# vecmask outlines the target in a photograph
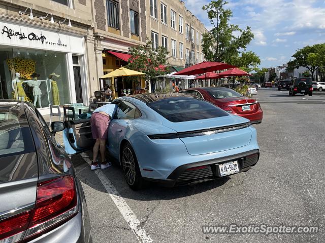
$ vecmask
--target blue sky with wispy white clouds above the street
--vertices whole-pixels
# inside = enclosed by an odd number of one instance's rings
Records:
[[[184,0],[186,8],[209,30],[212,28],[202,6],[209,0]],[[250,26],[254,39],[246,51],[261,59],[259,67],[276,67],[307,45],[325,43],[325,1],[316,0],[228,0],[232,24]]]

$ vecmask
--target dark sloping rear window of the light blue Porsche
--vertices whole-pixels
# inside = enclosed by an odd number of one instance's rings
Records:
[[[196,97],[171,97],[147,105],[173,123],[229,115],[213,104]]]

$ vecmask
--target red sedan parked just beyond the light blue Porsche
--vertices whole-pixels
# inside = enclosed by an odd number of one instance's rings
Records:
[[[223,87],[193,88],[180,91],[205,99],[226,112],[239,115],[250,120],[250,123],[261,123],[263,110],[252,98],[245,97],[236,91]]]

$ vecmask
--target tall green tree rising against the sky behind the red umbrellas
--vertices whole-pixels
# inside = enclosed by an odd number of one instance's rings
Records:
[[[231,63],[238,57],[239,50],[245,50],[254,38],[250,27],[242,30],[238,25],[229,24],[233,12],[223,8],[226,4],[228,2],[217,0],[202,7],[213,25],[212,30],[203,34],[202,40],[202,52],[208,61]]]

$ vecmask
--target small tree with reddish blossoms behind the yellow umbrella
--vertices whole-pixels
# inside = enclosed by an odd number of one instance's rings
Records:
[[[169,72],[169,67],[162,70],[159,65],[168,66],[168,51],[164,47],[152,49],[151,41],[146,45],[138,45],[128,48],[131,57],[128,59],[126,68],[143,72],[146,74],[146,83],[149,86],[150,80],[157,75],[164,75]]]

